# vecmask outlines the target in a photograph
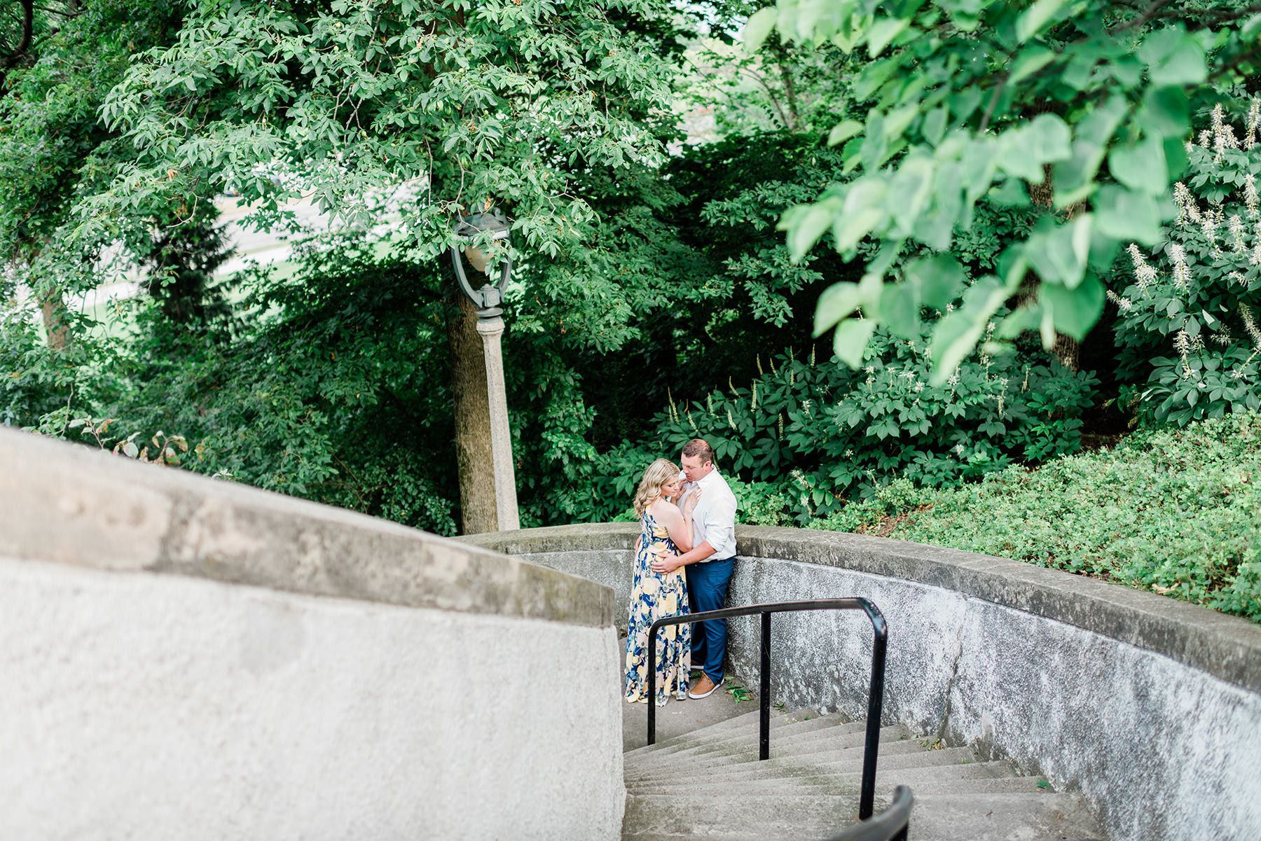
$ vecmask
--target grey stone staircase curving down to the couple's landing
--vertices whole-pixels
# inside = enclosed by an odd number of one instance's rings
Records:
[[[772,712],[758,762],[754,710],[625,753],[624,841],[828,838],[857,821],[864,724],[813,710]],[[912,841],[1081,841],[1102,837],[1076,797],[971,748],[929,749],[880,730],[876,806],[895,786],[915,803]]]

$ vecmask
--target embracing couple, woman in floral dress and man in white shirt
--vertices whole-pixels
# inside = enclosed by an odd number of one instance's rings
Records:
[[[643,473],[634,511],[636,542],[630,620],[627,627],[625,699],[647,701],[648,628],[657,619],[718,610],[735,566],[735,494],[714,467],[714,450],[694,439],[683,469],[657,459]],[[726,619],[666,625],[657,632],[657,706],[671,693],[709,696],[723,682]],[[689,690],[692,670],[701,676]]]

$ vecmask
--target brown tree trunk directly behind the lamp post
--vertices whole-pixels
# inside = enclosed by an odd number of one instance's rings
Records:
[[[445,260],[446,257],[444,257]],[[450,277],[448,289],[455,289]],[[451,351],[451,392],[455,402],[455,461],[460,480],[460,531],[478,535],[499,530],[494,499],[494,456],[491,451],[491,406],[485,358],[477,332],[473,301],[454,293],[446,335]]]

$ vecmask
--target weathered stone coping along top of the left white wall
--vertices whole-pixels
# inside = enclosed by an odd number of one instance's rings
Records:
[[[613,594],[459,541],[0,427],[0,555],[604,627]]]

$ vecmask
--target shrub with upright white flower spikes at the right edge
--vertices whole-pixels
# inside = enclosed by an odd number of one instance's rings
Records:
[[[1188,144],[1177,219],[1149,260],[1130,246],[1134,282],[1110,298],[1120,314],[1122,378],[1156,421],[1185,425],[1261,407],[1261,171],[1253,101],[1242,142],[1213,110],[1213,129]],[[1203,202],[1203,204],[1202,204]]]

